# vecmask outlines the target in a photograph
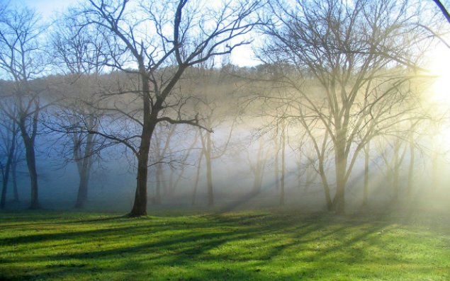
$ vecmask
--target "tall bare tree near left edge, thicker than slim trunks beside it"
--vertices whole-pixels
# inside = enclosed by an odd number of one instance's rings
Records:
[[[0,16],[0,69],[13,81],[11,93],[0,103],[1,110],[16,122],[26,149],[30,174],[30,209],[39,207],[35,138],[45,87],[33,79],[43,75],[45,53],[39,37],[43,33],[38,15],[28,8],[6,7]],[[33,85],[31,83],[33,82]]]

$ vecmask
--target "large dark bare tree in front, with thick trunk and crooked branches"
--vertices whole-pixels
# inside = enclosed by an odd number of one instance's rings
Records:
[[[150,142],[157,123],[202,127],[192,112],[181,112],[185,100],[174,101],[172,93],[177,82],[189,67],[248,44],[249,40],[240,37],[257,24],[250,20],[258,7],[254,1],[229,1],[221,6],[208,6],[206,1],[147,1],[133,6],[128,1],[89,0],[87,8],[82,9],[86,25],[96,25],[112,35],[111,67],[133,73],[140,80],[135,92],[141,100],[140,116],[125,116],[142,130],[133,139],[135,143],[123,140],[137,158],[135,202],[130,216],[147,214]],[[117,139],[114,135],[108,137]]]

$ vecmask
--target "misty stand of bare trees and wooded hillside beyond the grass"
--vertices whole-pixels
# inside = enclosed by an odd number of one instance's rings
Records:
[[[1,6],[0,206],[445,202],[449,103],[427,56],[448,28],[435,10],[86,1],[43,25]],[[265,38],[261,64],[230,64],[251,34]]]

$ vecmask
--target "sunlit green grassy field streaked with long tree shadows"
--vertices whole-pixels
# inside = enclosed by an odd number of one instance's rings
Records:
[[[0,280],[450,280],[446,217],[0,213]]]

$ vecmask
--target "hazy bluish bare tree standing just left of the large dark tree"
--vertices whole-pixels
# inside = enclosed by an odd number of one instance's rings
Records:
[[[68,159],[75,161],[79,174],[76,208],[82,208],[88,199],[89,175],[94,156],[108,147],[99,136],[91,133],[100,125],[104,111],[98,106],[99,76],[107,58],[103,48],[107,38],[96,30],[79,30],[80,18],[67,14],[58,19],[52,33],[54,64],[64,74],[64,81],[55,81],[55,92],[64,96],[53,113],[52,130],[67,134],[72,145]],[[79,124],[87,132],[77,130]]]

